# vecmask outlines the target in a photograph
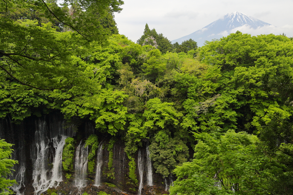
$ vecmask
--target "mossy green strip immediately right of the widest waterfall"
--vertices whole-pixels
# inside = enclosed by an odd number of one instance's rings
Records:
[[[62,165],[65,171],[73,171],[75,140],[72,137],[65,139],[65,145],[62,153]]]

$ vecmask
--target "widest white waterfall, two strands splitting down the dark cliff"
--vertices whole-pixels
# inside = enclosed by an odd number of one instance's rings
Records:
[[[38,121],[38,128],[35,131],[35,158],[33,158],[33,187],[35,194],[40,194],[51,187],[56,187],[62,181],[62,150],[65,144],[64,135],[56,135],[50,140],[47,134],[45,120]],[[55,154],[53,155],[52,169],[48,165],[50,143],[52,142]]]

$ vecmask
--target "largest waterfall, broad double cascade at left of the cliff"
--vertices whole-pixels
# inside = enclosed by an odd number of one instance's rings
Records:
[[[62,181],[62,151],[68,137],[65,134],[69,133],[72,136],[70,129],[65,130],[62,127],[62,120],[56,121],[54,118],[49,125],[44,119],[39,118],[36,121],[35,140],[31,151],[35,194],[56,187]]]

